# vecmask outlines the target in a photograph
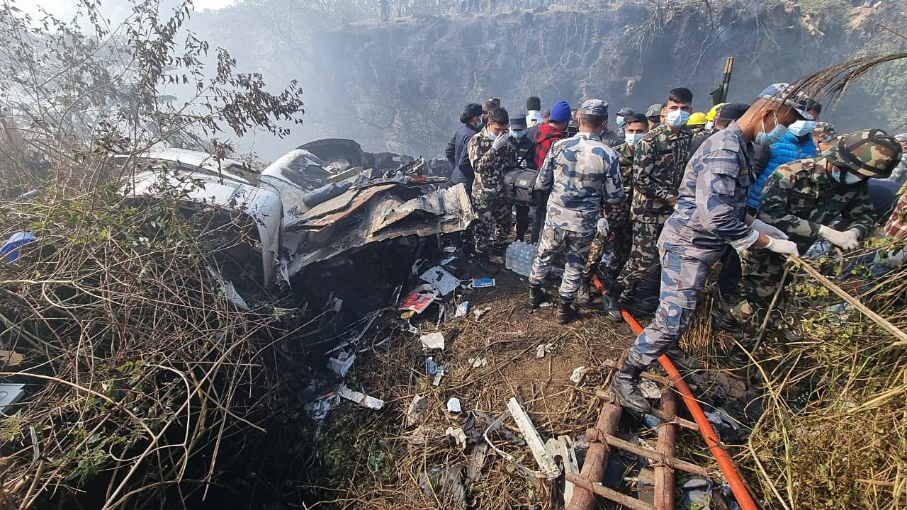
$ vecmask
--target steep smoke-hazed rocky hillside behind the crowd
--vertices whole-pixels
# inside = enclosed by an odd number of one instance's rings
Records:
[[[707,110],[727,56],[736,57],[729,99],[748,102],[766,84],[907,47],[888,31],[907,34],[907,13],[894,12],[907,11],[901,3],[870,9],[839,0],[587,4],[307,25],[289,40],[277,34],[275,41],[287,44],[258,44],[257,53],[271,54],[257,60],[272,63],[269,74],[304,83],[306,125],[294,143],[344,136],[368,150],[436,156],[458,126],[463,103],[493,95],[512,113],[524,110],[529,95],[541,96],[543,106],[597,97],[642,110],[683,85],[695,93],[694,107]],[[271,26],[274,32],[279,25]],[[843,130],[902,127],[905,71],[907,65],[891,64],[871,74],[824,119]],[[268,156],[270,147],[258,150]]]

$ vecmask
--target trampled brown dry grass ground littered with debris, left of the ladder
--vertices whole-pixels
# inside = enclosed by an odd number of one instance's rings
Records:
[[[443,495],[425,495],[419,475],[434,466],[465,467],[470,455],[454,446],[444,431],[463,427],[464,417],[444,412],[450,397],[458,397],[463,410],[479,410],[498,417],[506,402],[516,397],[532,417],[542,439],[551,436],[581,436],[598,417],[600,400],[594,390],[602,383],[601,373],[587,373],[580,387],[569,380],[574,368],[600,366],[607,358],[617,358],[629,346],[632,334],[625,325],[615,325],[593,309],[583,310],[583,319],[566,327],[554,320],[555,308],[529,309],[524,301],[524,284],[512,273],[498,275],[494,289],[475,289],[469,299],[473,309],[492,310],[476,320],[453,319],[441,327],[449,342],[444,352],[434,354],[438,364],[449,369],[440,387],[432,387],[424,373],[426,353],[417,336],[394,331],[386,347],[372,359],[357,360],[356,382],[366,392],[385,399],[385,409],[369,414],[356,407],[339,410],[340,416],[328,418],[319,451],[331,451],[339,441],[349,441],[344,456],[322,461],[336,468],[347,462],[343,472],[348,485],[338,488],[332,505],[343,508],[451,508],[453,503],[439,501]],[[392,321],[393,322],[393,321]],[[423,331],[434,330],[431,321],[414,324]],[[383,338],[386,333],[379,333]],[[536,358],[536,347],[551,343],[553,352]],[[487,358],[488,365],[473,368],[469,358]],[[428,398],[424,423],[405,427],[405,412],[415,395]],[[484,429],[480,420],[479,425]],[[512,420],[505,425],[516,430]],[[348,427],[355,427],[351,432]],[[490,435],[495,445],[515,456],[523,466],[537,469],[528,447],[510,446],[501,436]],[[348,438],[348,439],[347,439]],[[329,442],[330,446],[326,443]],[[466,450],[470,452],[470,449]],[[376,457],[380,456],[380,460]],[[343,460],[341,460],[343,459]],[[501,456],[491,453],[485,459],[481,479],[466,486],[472,508],[512,508],[541,505],[553,508],[551,487],[533,485]]]

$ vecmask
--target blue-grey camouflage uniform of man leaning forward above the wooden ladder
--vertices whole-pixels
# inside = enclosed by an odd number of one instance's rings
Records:
[[[678,191],[677,211],[658,238],[661,293],[655,319],[630,348],[628,361],[649,366],[689,329],[711,266],[728,244],[742,250],[758,239],[746,225],[753,143],[740,127],[707,138],[693,154]]]

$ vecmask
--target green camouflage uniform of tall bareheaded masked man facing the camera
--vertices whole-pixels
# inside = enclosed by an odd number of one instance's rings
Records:
[[[691,141],[688,129],[681,127],[672,132],[667,125],[660,125],[636,145],[630,208],[633,240],[618,279],[624,288],[622,300],[637,298],[634,291],[639,282],[659,270],[658,235],[674,211],[669,201],[678,197]]]

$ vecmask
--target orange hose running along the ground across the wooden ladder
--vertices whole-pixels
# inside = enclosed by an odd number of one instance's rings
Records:
[[[627,321],[627,324],[629,324],[630,329],[633,329],[634,333],[637,335],[642,333],[642,327],[639,326],[639,322],[637,322],[627,310],[621,309],[620,313],[623,315],[624,320]],[[757,510],[758,506],[756,506],[756,502],[753,501],[753,496],[749,495],[749,491],[746,490],[743,478],[736,472],[734,463],[731,462],[731,457],[727,455],[727,452],[721,446],[721,441],[718,439],[715,429],[712,428],[712,424],[708,423],[706,414],[702,412],[702,407],[699,407],[696,397],[693,397],[693,392],[690,391],[687,386],[687,381],[683,380],[683,376],[680,375],[680,372],[674,367],[674,363],[671,362],[667,355],[661,355],[661,357],[658,358],[658,362],[661,363],[661,366],[668,372],[668,377],[674,381],[674,386],[677,387],[680,397],[683,397],[683,402],[687,405],[689,413],[693,415],[693,419],[696,420],[696,424],[699,426],[699,433],[702,434],[702,437],[706,440],[706,445],[708,446],[709,451],[712,452],[712,456],[715,457],[718,468],[721,469],[721,473],[727,479],[727,485],[730,485],[731,491],[734,493],[734,497],[736,497],[737,504],[740,505],[743,510]]]

